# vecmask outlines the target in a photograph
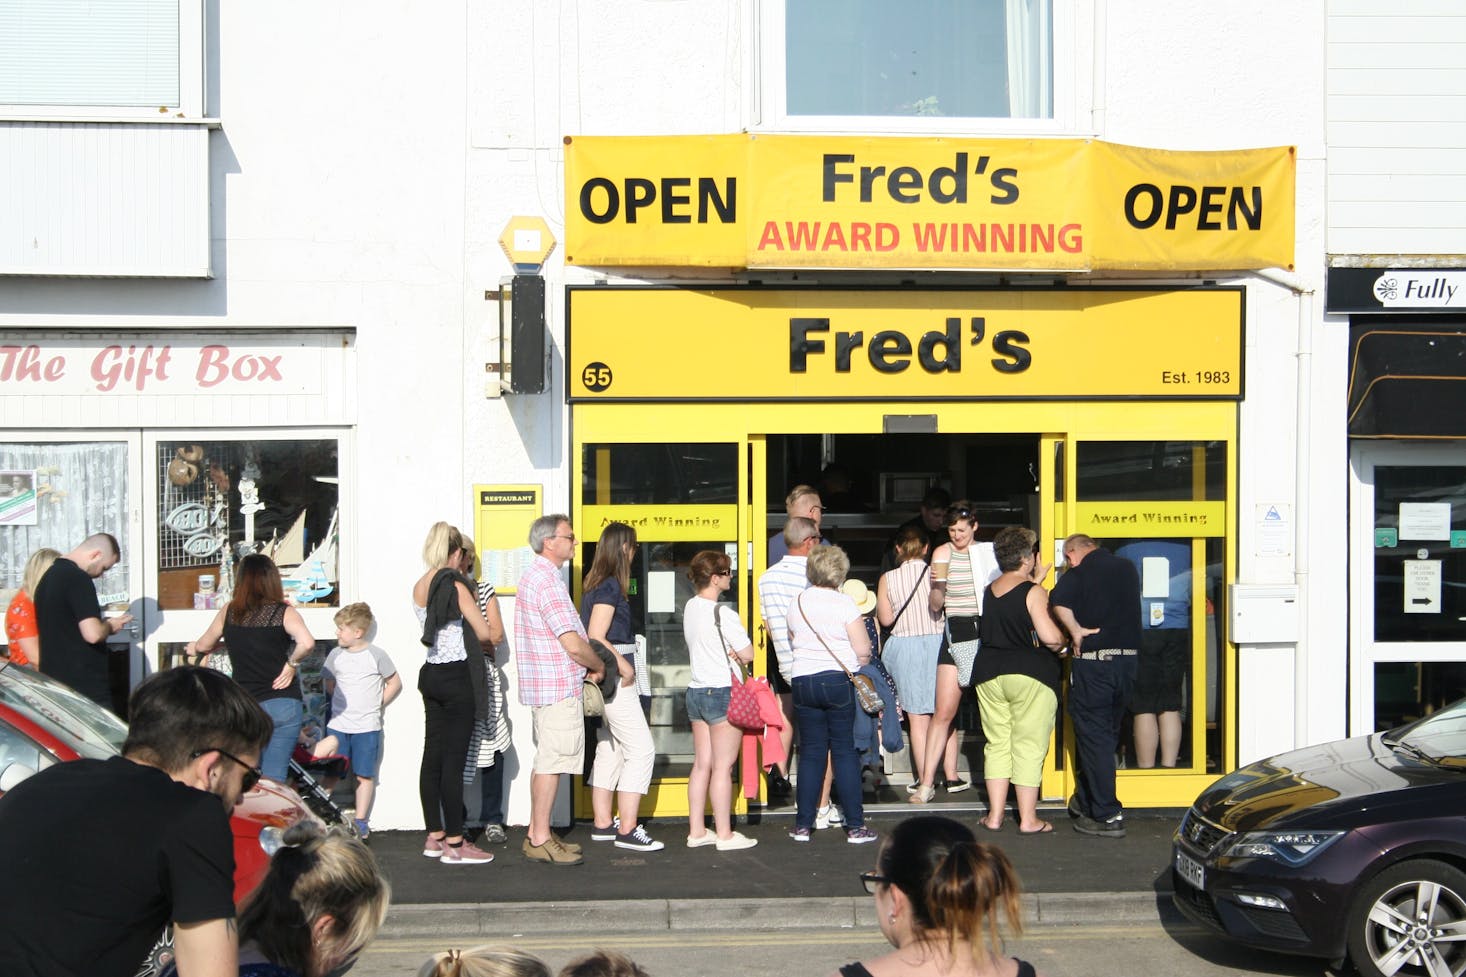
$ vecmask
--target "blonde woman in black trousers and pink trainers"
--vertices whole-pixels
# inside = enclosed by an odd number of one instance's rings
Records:
[[[422,625],[427,662],[418,672],[422,692],[422,766],[418,795],[428,836],[422,854],[444,866],[482,866],[494,860],[463,841],[463,764],[474,723],[488,719],[488,672],[484,648],[504,638],[478,607],[474,581],[463,575],[463,535],[434,522],[422,544],[427,572],[412,587],[412,610]],[[465,644],[474,632],[474,654]]]

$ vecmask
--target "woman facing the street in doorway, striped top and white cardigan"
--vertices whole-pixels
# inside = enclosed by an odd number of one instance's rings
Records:
[[[982,621],[982,591],[998,575],[991,543],[978,543],[978,515],[972,503],[960,499],[947,508],[947,534],[931,555],[932,613],[947,615],[941,651],[937,653],[937,695],[934,713],[927,728],[927,750],[921,767],[921,782],[912,792],[912,804],[925,804],[937,795],[937,766],[943,760],[951,720],[957,717],[962,689],[972,684],[972,663],[978,654],[978,623]],[[950,769],[950,767],[949,767]],[[949,775],[943,785],[947,794],[966,791],[970,783]]]

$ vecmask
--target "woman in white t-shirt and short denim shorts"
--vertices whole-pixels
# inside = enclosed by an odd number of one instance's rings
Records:
[[[733,585],[727,553],[702,550],[688,565],[696,591],[682,610],[688,643],[688,719],[692,723],[692,770],[688,773],[688,848],[715,845],[718,851],[752,848],[758,839],[733,830],[733,764],[743,731],[729,722],[733,682],[743,681],[743,666],[754,660],[737,613],[718,603]],[[734,679],[734,672],[737,678]],[[712,798],[712,832],[707,826]]]

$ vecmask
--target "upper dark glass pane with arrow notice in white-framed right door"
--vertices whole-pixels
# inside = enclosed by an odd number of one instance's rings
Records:
[[[1375,641],[1466,641],[1466,466],[1375,466]]]

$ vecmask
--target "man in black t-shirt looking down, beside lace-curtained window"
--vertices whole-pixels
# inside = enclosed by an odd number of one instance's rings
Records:
[[[117,540],[110,533],[94,533],[57,559],[35,587],[41,672],[107,709],[113,707],[107,638],[122,631],[132,615],[104,619],[92,581],[119,557]]]

